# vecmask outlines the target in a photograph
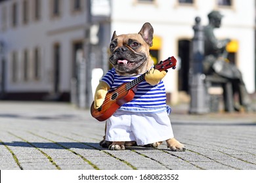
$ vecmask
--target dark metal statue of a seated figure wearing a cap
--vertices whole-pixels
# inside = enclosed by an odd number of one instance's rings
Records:
[[[239,103],[234,105],[234,110],[240,111],[244,108],[245,111],[250,111],[251,100],[245,88],[242,73],[234,63],[230,63],[227,59],[228,52],[226,51],[226,44],[230,42],[230,39],[218,40],[213,33],[213,29],[221,26],[223,15],[221,15],[219,11],[213,10],[208,14],[208,18],[209,24],[203,29],[205,39],[203,72],[205,75],[215,75],[217,77],[226,78],[231,82],[233,93],[238,93],[239,95]]]

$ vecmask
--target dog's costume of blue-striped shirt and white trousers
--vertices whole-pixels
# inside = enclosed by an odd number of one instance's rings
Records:
[[[122,105],[108,118],[106,141],[136,141],[138,145],[145,145],[173,138],[168,116],[171,108],[166,105],[165,86],[163,81],[157,81],[166,73],[157,71],[152,69],[152,75],[160,76],[150,78],[148,73],[145,77],[154,86],[146,81],[140,82],[133,100]],[[138,76],[120,76],[113,68],[101,82],[106,82],[111,91]]]

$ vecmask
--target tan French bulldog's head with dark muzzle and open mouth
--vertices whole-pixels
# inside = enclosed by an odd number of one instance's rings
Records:
[[[110,43],[110,63],[116,73],[123,76],[139,75],[148,71],[153,61],[149,48],[152,46],[154,29],[145,23],[139,33],[116,35]]]

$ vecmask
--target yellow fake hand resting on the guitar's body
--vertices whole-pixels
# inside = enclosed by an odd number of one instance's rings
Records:
[[[106,93],[110,87],[106,82],[100,81],[95,91],[95,105],[94,108],[99,108],[105,100]]]

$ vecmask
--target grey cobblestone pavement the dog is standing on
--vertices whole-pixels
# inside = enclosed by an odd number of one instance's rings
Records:
[[[99,146],[104,123],[89,110],[0,101],[0,169],[256,169],[256,114],[189,115],[173,107],[170,118],[186,152],[165,143],[112,151]]]

